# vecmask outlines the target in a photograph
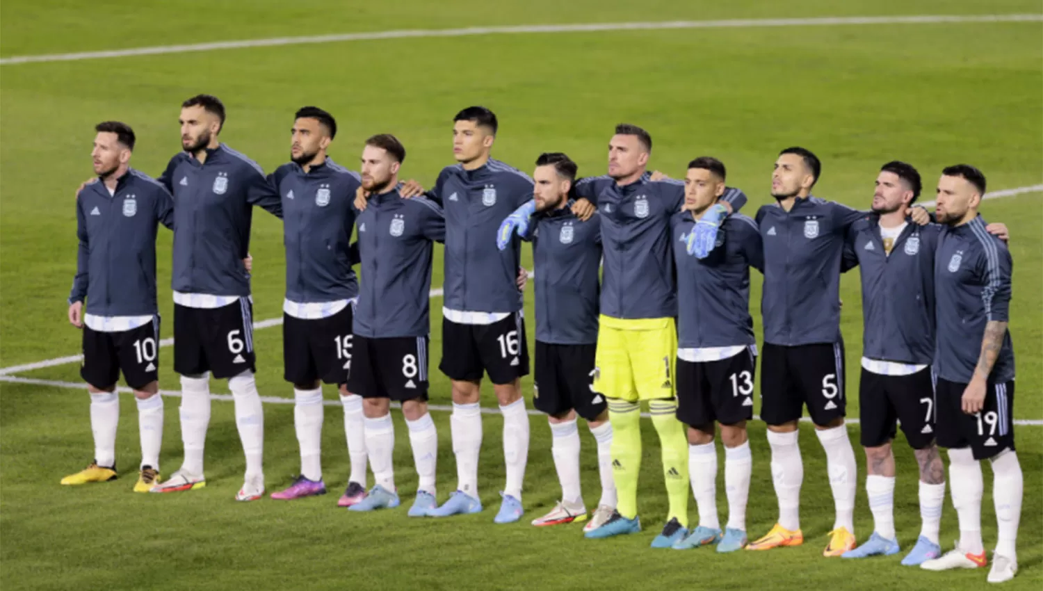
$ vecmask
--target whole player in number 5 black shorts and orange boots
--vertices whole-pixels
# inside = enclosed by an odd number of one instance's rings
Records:
[[[826,451],[836,518],[826,557],[854,547],[854,450],[844,423],[844,345],[840,330],[840,274],[848,228],[866,213],[811,196],[822,165],[810,151],[786,148],[775,161],[772,196],[757,212],[765,247],[760,310],[760,416],[768,423],[772,481],[779,520],[747,549],[796,546],[800,531],[800,487],[804,467],[797,430],[803,407]],[[928,219],[917,207],[915,221]]]

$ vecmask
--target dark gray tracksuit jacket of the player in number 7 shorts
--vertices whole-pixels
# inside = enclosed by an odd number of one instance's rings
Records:
[[[942,226],[912,221],[889,256],[879,216],[848,230],[844,269],[862,268],[863,355],[928,365],[935,356],[935,250]]]

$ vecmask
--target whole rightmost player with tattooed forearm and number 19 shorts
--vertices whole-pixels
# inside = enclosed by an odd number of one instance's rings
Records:
[[[956,165],[938,181],[938,221],[948,226],[936,253],[938,444],[949,451],[952,506],[960,518],[955,549],[924,562],[927,570],[983,568],[979,462],[993,471],[998,540],[989,583],[1018,571],[1015,541],[1023,478],[1014,450],[1014,349],[1008,330],[1011,253],[978,215],[986,179]]]

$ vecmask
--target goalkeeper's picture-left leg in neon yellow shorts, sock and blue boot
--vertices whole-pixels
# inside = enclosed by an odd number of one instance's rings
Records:
[[[637,518],[637,475],[641,467],[640,405],[627,350],[629,337],[629,330],[608,325],[602,317],[592,386],[608,400],[608,419],[612,425],[610,457],[617,502],[615,512],[604,524],[584,532],[583,535],[591,539],[641,531]]]

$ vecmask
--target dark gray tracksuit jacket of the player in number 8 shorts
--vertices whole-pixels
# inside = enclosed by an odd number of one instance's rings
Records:
[[[428,335],[434,242],[445,241],[442,208],[423,197],[403,199],[393,190],[371,197],[356,223],[363,280],[355,334]]]

